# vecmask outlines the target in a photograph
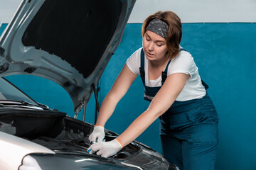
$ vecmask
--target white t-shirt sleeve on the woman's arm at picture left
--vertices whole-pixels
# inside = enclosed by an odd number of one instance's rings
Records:
[[[140,52],[142,48],[135,51],[128,59],[127,59],[127,66],[134,74],[139,74],[139,67],[140,67]]]

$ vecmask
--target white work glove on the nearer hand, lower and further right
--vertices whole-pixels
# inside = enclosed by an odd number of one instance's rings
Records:
[[[114,139],[109,142],[97,142],[90,145],[87,151],[90,151],[89,154],[97,152],[96,154],[102,157],[110,157],[119,152],[122,147],[122,144],[117,139]]]

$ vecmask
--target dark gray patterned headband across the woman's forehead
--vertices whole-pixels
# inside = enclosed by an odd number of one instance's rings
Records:
[[[168,34],[168,25],[157,18],[150,21],[149,26],[146,27],[146,30],[150,30],[153,33],[156,33],[166,39]]]

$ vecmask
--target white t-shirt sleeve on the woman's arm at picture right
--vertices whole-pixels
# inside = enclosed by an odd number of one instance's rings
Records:
[[[188,74],[191,78],[194,69],[196,69],[194,68],[195,64],[193,63],[193,57],[191,56],[191,54],[186,51],[181,51],[176,58],[171,60],[171,63],[168,67],[167,75],[169,76],[170,74],[174,73],[184,73]]]

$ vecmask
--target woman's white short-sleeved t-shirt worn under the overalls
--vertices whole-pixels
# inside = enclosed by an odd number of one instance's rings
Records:
[[[134,74],[140,74],[141,50],[142,47],[134,52],[126,62],[127,66]],[[149,80],[148,63],[149,60],[144,56],[145,85],[149,87],[161,86],[161,76],[158,79]],[[189,101],[196,98],[202,98],[206,95],[206,89],[202,85],[201,77],[198,74],[198,67],[196,67],[196,63],[189,52],[181,51],[177,57],[171,60],[167,76],[174,73],[184,73],[190,76],[181,93],[176,98],[176,101]]]

